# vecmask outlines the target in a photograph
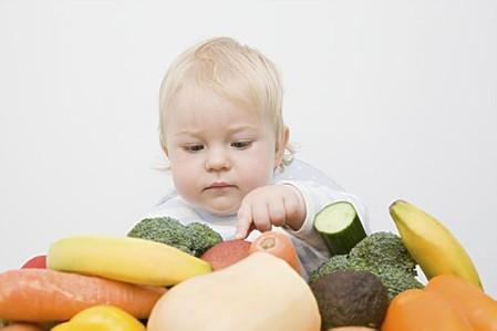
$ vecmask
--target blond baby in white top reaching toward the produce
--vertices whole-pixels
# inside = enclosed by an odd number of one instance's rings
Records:
[[[352,203],[363,223],[365,213],[319,172],[299,178],[310,167],[293,162],[281,104],[280,76],[257,50],[215,38],[180,54],[159,103],[161,145],[175,188],[147,217],[204,223],[224,239],[284,230],[304,276],[319,267],[329,254],[313,228],[315,214],[339,200]]]

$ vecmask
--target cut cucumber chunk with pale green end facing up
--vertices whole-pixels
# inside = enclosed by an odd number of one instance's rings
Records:
[[[314,217],[314,229],[323,238],[331,256],[349,254],[366,237],[354,206],[346,201],[323,207]]]

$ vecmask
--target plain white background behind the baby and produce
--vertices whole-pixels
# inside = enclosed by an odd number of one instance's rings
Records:
[[[0,270],[73,234],[124,236],[168,186],[157,95],[213,35],[283,73],[300,158],[396,231],[442,220],[497,297],[497,2],[0,0]]]

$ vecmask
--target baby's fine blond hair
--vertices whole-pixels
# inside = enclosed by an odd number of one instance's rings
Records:
[[[213,38],[182,53],[170,65],[161,84],[159,134],[166,146],[166,114],[170,101],[183,86],[208,89],[230,101],[269,115],[277,139],[284,132],[282,85],[275,64],[259,51],[231,38]],[[282,166],[293,159],[286,146]]]

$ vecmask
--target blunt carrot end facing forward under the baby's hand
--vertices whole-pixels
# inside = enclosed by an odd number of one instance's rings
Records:
[[[265,251],[286,260],[299,275],[302,271],[297,250],[290,238],[276,231],[263,232],[250,245],[249,254]]]

